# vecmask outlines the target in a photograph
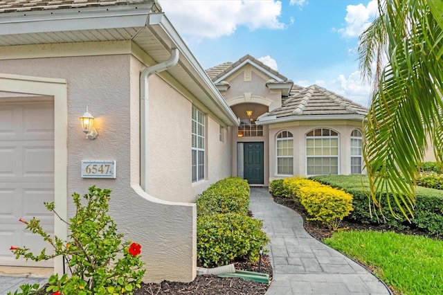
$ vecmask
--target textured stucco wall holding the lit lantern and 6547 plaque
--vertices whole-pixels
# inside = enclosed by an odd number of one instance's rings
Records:
[[[86,193],[93,184],[111,189],[110,214],[125,238],[142,245],[145,280],[190,281],[196,271],[195,204],[168,204],[144,194],[134,184],[140,172],[139,98],[138,90],[131,86],[138,84],[139,72],[131,62],[130,55],[0,60],[0,71],[68,81],[69,194]],[[99,136],[95,141],[84,138],[80,130],[78,117],[87,106],[96,117]],[[167,143],[170,144],[169,138]],[[117,178],[82,179],[82,159],[116,160]],[[190,164],[188,167],[190,170]],[[190,190],[181,195],[184,201],[191,199],[186,195],[189,193]],[[69,197],[68,215],[73,213]]]

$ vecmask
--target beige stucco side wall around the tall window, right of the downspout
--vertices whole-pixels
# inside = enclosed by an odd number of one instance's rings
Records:
[[[172,202],[195,202],[210,184],[230,175],[229,141],[219,141],[219,123],[197,105],[206,115],[206,165],[205,179],[192,184],[192,98],[156,75],[149,83],[149,193]]]

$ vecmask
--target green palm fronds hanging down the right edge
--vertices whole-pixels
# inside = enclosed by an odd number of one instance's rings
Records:
[[[378,3],[359,45],[361,72],[374,80],[363,157],[374,203],[392,193],[408,217],[428,138],[443,163],[443,1]]]

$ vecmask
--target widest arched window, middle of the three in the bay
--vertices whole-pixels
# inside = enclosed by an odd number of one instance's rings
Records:
[[[318,128],[306,134],[307,175],[338,174],[338,133]]]

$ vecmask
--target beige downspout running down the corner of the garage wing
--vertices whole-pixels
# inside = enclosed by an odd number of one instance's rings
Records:
[[[179,49],[172,48],[171,56],[169,60],[165,60],[160,64],[154,64],[154,66],[149,66],[141,72],[140,75],[140,162],[141,162],[141,175],[140,175],[140,186],[148,193],[148,126],[149,123],[149,111],[148,111],[148,100],[149,100],[149,89],[147,80],[150,75],[154,73],[160,73],[162,71],[168,70],[175,66],[179,62]]]

